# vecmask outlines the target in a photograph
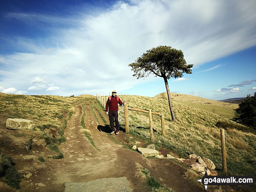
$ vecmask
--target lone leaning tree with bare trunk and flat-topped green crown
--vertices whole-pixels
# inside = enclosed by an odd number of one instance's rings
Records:
[[[149,74],[164,78],[172,120],[176,120],[167,80],[182,77],[183,73],[192,74],[193,64],[186,64],[183,52],[168,46],[153,47],[128,66],[132,67],[133,76],[137,79]]]

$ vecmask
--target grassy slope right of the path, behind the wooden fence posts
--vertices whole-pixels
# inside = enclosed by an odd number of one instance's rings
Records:
[[[204,102],[205,106],[222,108],[228,106],[229,110],[236,106],[217,101],[199,100],[196,97],[186,98],[179,96],[173,99],[173,108],[177,121],[171,121],[168,101],[162,98],[149,98],[135,95],[120,95],[120,99],[128,103],[129,107],[152,109],[165,115],[166,137],[161,133],[160,117],[153,115],[154,138],[159,146],[171,149],[180,157],[188,154],[197,154],[212,159],[217,170],[222,170],[220,129],[216,126],[219,122],[228,125],[226,128],[227,167],[230,174],[249,175],[256,172],[256,135],[246,131],[239,131],[235,127],[245,128],[234,121],[224,118],[224,115],[194,107],[194,104]],[[192,100],[194,99],[194,100]],[[195,100],[197,99],[197,100]],[[193,101],[193,102],[192,102]],[[185,103],[185,104],[184,104]],[[187,104],[189,103],[189,104]],[[209,104],[208,104],[209,103]],[[120,112],[121,110],[119,110]],[[150,139],[148,114],[129,111],[130,131],[135,135]],[[124,125],[124,118],[121,121]]]

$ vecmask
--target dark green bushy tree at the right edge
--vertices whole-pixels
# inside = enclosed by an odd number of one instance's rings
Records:
[[[254,96],[250,94],[239,104],[236,109],[238,118],[236,120],[244,125],[252,126],[256,130],[256,92]]]

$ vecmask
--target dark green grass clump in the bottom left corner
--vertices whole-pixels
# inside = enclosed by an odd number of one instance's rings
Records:
[[[20,189],[20,181],[23,177],[17,172],[12,158],[0,152],[0,181],[7,183],[14,189]]]

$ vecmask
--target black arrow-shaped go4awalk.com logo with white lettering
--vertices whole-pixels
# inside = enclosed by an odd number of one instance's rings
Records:
[[[255,178],[253,176],[242,176],[242,175],[236,175],[236,176],[230,176],[230,175],[208,175],[207,172],[205,172],[205,175],[202,179],[197,180],[199,182],[202,182],[203,185],[205,185],[205,190],[207,189],[208,185],[216,185],[216,186],[222,186],[222,185],[254,185]]]

